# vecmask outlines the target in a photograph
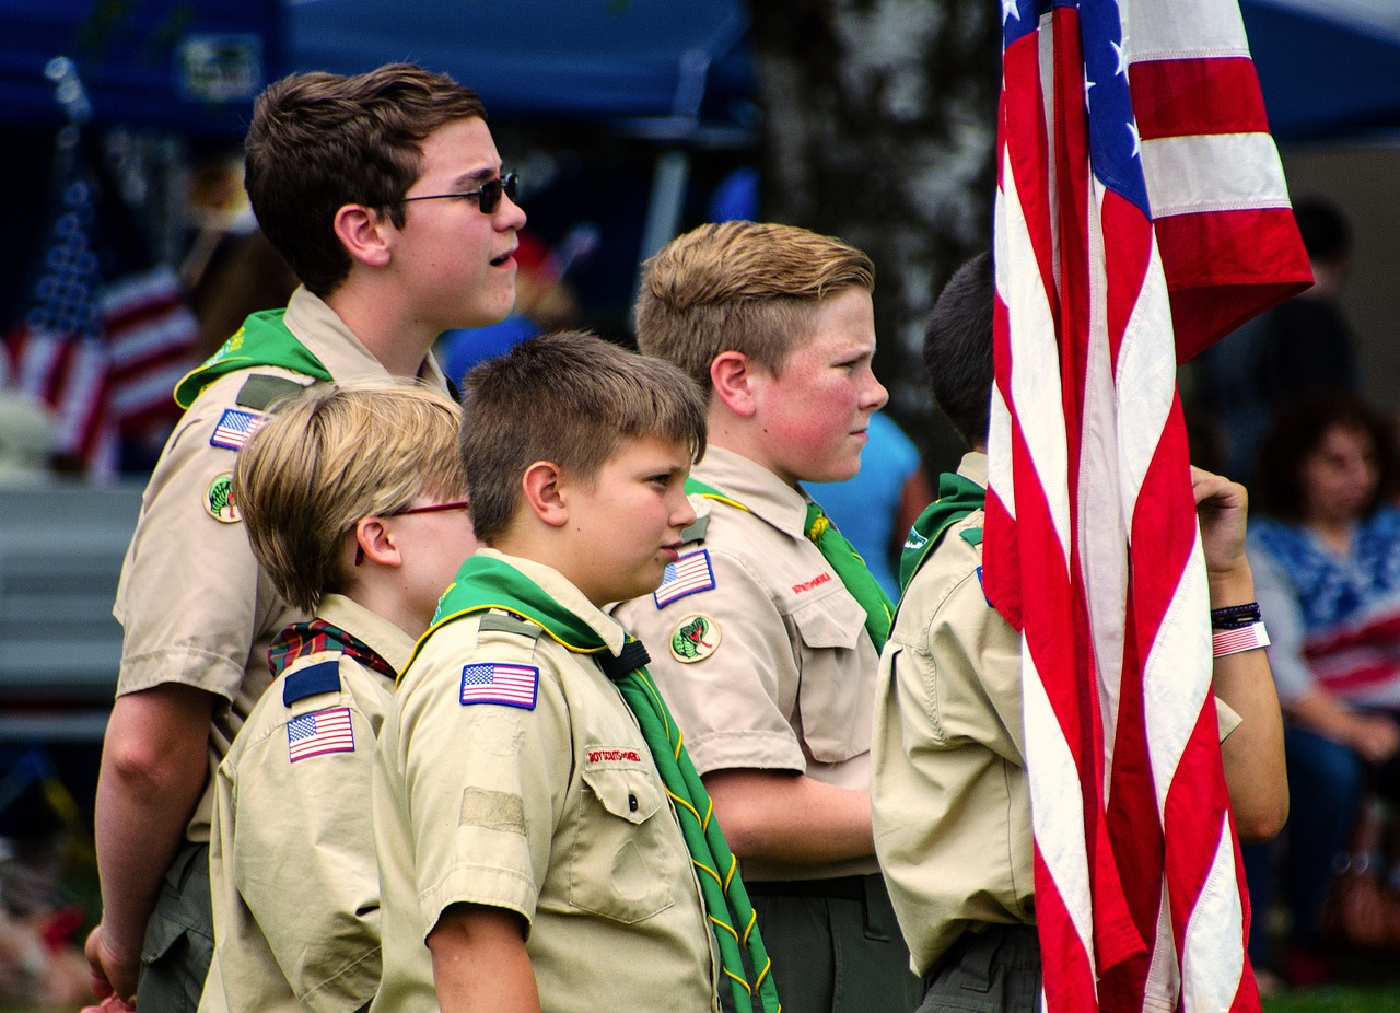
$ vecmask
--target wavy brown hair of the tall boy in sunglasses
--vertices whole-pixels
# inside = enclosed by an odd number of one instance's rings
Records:
[[[389,63],[367,74],[293,74],[253,105],[245,185],[258,223],[311,291],[344,280],[336,212],[364,205],[403,227],[398,203],[423,172],[423,142],[444,123],[486,119],[447,74]]]

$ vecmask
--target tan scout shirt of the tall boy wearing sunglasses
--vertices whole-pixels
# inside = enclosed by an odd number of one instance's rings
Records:
[[[305,289],[293,293],[284,319],[336,380],[389,378],[335,311]],[[112,608],[125,633],[119,696],[179,682],[228,702],[214,712],[210,775],[272,681],[272,639],[288,622],[305,618],[260,572],[244,525],[216,520],[207,509],[210,485],[232,472],[237,453],[210,439],[224,411],[238,408],[238,392],[252,373],[309,383],[288,370],[258,367],[204,388],[171,433],[146,486]],[[447,390],[431,356],[423,378]],[[209,839],[211,797],[206,789],[186,829],[190,841]]]

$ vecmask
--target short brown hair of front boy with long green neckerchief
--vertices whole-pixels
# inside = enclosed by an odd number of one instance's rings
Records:
[[[578,331],[521,342],[462,381],[462,464],[476,537],[490,545],[549,461],[589,482],[623,440],[657,436],[704,454],[706,405],[679,368]]]

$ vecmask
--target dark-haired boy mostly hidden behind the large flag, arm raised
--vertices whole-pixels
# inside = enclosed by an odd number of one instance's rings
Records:
[[[977,1009],[1030,1013],[1040,995],[1021,638],[980,583],[993,297],[983,254],[953,275],[928,319],[934,398],[972,453],[939,479],[938,502],[910,535],[875,698],[875,845],[914,970],[928,984],[920,1013],[962,1009],[973,991]],[[1193,485],[1211,605],[1252,601],[1245,489],[1203,471]],[[1288,790],[1264,653],[1217,657],[1215,694],[1236,831],[1267,839],[1282,825]]]

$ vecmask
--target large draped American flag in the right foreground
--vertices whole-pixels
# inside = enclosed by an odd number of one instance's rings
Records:
[[[984,588],[1022,633],[1044,1007],[1257,1010],[1175,367],[1306,256],[1233,0],[1001,14]]]

